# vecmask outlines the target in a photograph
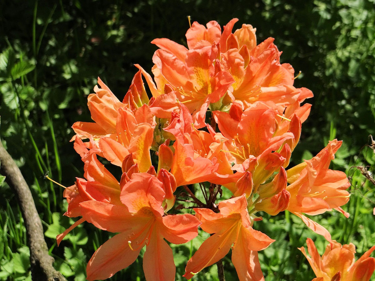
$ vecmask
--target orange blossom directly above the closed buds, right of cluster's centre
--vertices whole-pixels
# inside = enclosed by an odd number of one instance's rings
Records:
[[[292,132],[277,135],[277,112],[273,108],[257,103],[242,111],[232,105],[229,113],[214,111],[213,115],[220,132],[228,139],[225,145],[231,155],[228,158],[235,163],[232,169],[252,173],[253,193],[281,166],[288,165],[291,150],[285,143],[295,136]]]

